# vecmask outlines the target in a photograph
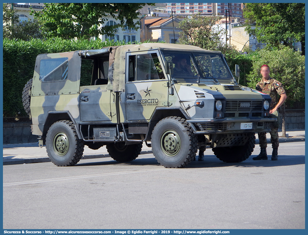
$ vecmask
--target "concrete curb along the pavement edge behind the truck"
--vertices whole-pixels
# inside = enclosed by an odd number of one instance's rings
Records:
[[[288,142],[302,142],[305,141],[305,137],[280,137],[279,143],[288,143]],[[267,139],[267,143],[270,144],[270,139]],[[256,139],[256,145],[259,144],[259,140]],[[257,146],[256,146],[257,147]],[[207,148],[210,148],[207,146]],[[140,154],[152,154],[152,150],[141,151]],[[109,154],[97,154],[97,155],[85,155],[81,159],[94,159],[94,158],[103,158],[110,157]],[[38,158],[26,158],[26,159],[3,159],[3,165],[17,165],[17,164],[28,164],[28,163],[41,163],[41,162],[50,162],[49,157],[38,157]]]

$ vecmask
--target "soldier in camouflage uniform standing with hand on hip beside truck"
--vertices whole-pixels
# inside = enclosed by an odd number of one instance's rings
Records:
[[[256,90],[261,91],[265,94],[270,95],[272,98],[271,107],[270,107],[270,114],[272,117],[277,118],[277,122],[275,123],[275,127],[270,131],[270,140],[272,143],[272,160],[278,160],[278,146],[279,146],[279,138],[278,138],[278,126],[279,126],[279,113],[278,108],[282,106],[285,102],[287,95],[285,90],[282,87],[282,83],[278,82],[274,78],[270,77],[270,68],[267,65],[261,66],[262,79],[256,85]],[[278,94],[280,95],[280,99],[278,101]],[[253,157],[253,160],[267,160],[267,153],[266,153],[266,132],[258,133],[259,137],[259,145],[261,148],[261,152],[257,157]]]

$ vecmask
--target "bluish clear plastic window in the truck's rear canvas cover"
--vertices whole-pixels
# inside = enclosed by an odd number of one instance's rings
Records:
[[[40,61],[39,80],[42,82],[63,81],[67,79],[68,58],[52,58]]]

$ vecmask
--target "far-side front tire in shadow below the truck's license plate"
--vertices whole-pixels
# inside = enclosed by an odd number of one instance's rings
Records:
[[[248,138],[245,145],[213,148],[216,157],[228,163],[245,161],[253,152],[256,137],[254,133],[242,133],[242,135],[243,138]]]

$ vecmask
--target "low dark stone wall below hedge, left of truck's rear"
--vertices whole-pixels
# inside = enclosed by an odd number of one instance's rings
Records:
[[[3,122],[3,144],[21,144],[37,142],[37,135],[32,135],[32,122]]]

